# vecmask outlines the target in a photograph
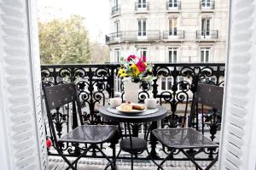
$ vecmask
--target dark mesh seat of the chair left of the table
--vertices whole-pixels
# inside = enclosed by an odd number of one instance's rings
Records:
[[[117,133],[118,128],[114,125],[82,125],[67,133],[58,141],[86,144],[101,144],[108,142]]]

